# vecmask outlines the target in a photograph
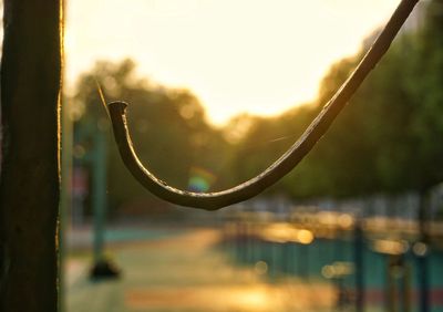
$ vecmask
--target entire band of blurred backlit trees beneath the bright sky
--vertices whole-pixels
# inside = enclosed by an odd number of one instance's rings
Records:
[[[331,129],[270,193],[298,198],[349,197],[422,191],[443,180],[442,8],[442,0],[432,1],[424,25],[394,41]],[[194,171],[210,181],[210,187],[202,190],[215,190],[247,180],[276,160],[362,56],[363,51],[332,65],[315,103],[277,117],[238,116],[223,129],[208,124],[190,92],[136,77],[130,61],[102,62],[80,80],[74,101],[89,113],[79,127],[100,119],[100,114],[104,117],[103,112],[99,114],[103,110],[97,104],[97,77],[109,100],[131,103],[135,147],[156,175],[189,189],[192,168],[198,167]],[[110,149],[111,196],[121,204],[144,194],[120,163],[111,138]]]

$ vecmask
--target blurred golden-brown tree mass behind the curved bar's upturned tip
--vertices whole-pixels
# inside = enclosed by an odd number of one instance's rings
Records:
[[[141,160],[155,175],[173,186],[189,189],[193,187],[189,184],[192,175],[217,173],[220,168],[226,143],[223,135],[208,125],[204,108],[190,92],[167,89],[137,77],[135,63],[131,60],[97,62],[91,72],[80,77],[72,101],[79,112],[75,124],[78,144],[83,148],[87,150],[87,138],[81,134],[82,131],[107,128],[111,206],[117,207],[141,197],[161,204],[122,165],[95,81],[103,87],[106,101],[130,103],[127,116],[134,146]],[[210,174],[198,178],[206,179],[208,188],[217,187]]]

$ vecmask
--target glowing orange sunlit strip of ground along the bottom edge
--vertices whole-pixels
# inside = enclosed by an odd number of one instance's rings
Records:
[[[315,306],[330,306],[333,300],[331,288],[317,285],[321,293],[317,302],[309,297],[310,290],[303,284],[293,284],[288,289],[282,284],[234,285],[234,287],[196,287],[182,289],[132,289],[125,293],[130,309],[174,309],[173,311],[288,311],[297,306],[300,311],[311,311]],[[293,300],[293,291],[297,300]],[[297,309],[299,311],[299,309]],[[131,310],[132,311],[132,310]],[[147,310],[143,310],[147,311]],[[162,310],[163,311],[163,310]],[[169,310],[168,310],[169,311]]]

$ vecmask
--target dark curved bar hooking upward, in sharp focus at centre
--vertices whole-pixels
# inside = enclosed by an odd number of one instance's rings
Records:
[[[151,193],[176,205],[216,210],[249,199],[288,174],[312,149],[327,132],[333,119],[356,93],[360,84],[388,51],[400,28],[419,0],[402,0],[388,24],[364,55],[360,64],[334,96],[324,105],[301,137],[271,166],[255,178],[236,187],[216,193],[189,193],[168,186],[151,174],[134,152],[127,131],[125,111],[127,104],[109,104],[115,141],[124,164],[132,175]]]

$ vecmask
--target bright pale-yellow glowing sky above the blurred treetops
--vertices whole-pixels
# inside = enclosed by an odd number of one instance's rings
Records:
[[[400,0],[75,0],[66,8],[66,87],[96,60],[189,89],[222,125],[316,98],[329,66],[361,48]],[[122,98],[124,100],[124,98]]]

